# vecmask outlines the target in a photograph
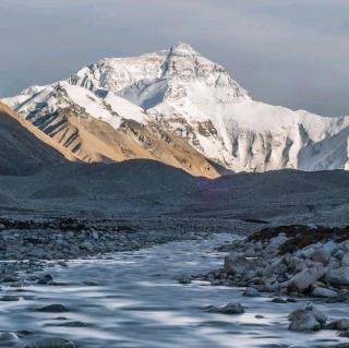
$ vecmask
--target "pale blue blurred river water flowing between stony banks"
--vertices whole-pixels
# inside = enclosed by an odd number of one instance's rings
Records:
[[[80,260],[69,267],[49,272],[60,286],[2,288],[3,295],[20,301],[0,303],[0,329],[31,331],[32,335],[0,347],[23,347],[43,337],[63,337],[86,348],[169,347],[334,347],[349,343],[335,332],[290,333],[287,315],[301,305],[272,303],[268,296],[244,298],[241,289],[213,287],[193,281],[180,285],[180,274],[205,273],[222,264],[216,245],[231,241],[228,235],[210,240],[171,242],[135,252],[116,253],[104,259]],[[241,315],[207,313],[206,305],[239,301]],[[36,309],[60,303],[67,313],[41,313]],[[330,317],[346,317],[348,304],[316,304]],[[255,319],[255,315],[264,319]],[[65,320],[63,320],[63,317]],[[80,321],[86,327],[58,326]],[[349,345],[348,345],[349,347]]]

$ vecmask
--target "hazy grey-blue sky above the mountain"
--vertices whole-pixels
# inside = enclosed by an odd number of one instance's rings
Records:
[[[188,41],[255,99],[349,115],[349,1],[0,0],[0,97]]]

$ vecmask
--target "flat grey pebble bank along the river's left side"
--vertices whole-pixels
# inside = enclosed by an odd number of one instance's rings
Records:
[[[207,239],[214,233],[245,236],[255,224],[215,219],[0,218],[0,284],[21,286],[51,262],[101,257],[157,244]],[[234,228],[231,228],[233,226]]]

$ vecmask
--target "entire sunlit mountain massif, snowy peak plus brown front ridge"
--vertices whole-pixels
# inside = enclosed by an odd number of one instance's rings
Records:
[[[4,101],[87,161],[153,158],[206,177],[218,167],[349,169],[349,117],[255,101],[222,67],[182,43],[104,59]]]

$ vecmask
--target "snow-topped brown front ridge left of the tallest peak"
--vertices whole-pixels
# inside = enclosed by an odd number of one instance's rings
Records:
[[[33,95],[27,94],[31,89]],[[5,101],[83,161],[147,158],[195,176],[218,176],[197,151],[158,128],[144,109],[113,93],[99,98],[86,88],[63,81],[25,89],[19,97]]]

